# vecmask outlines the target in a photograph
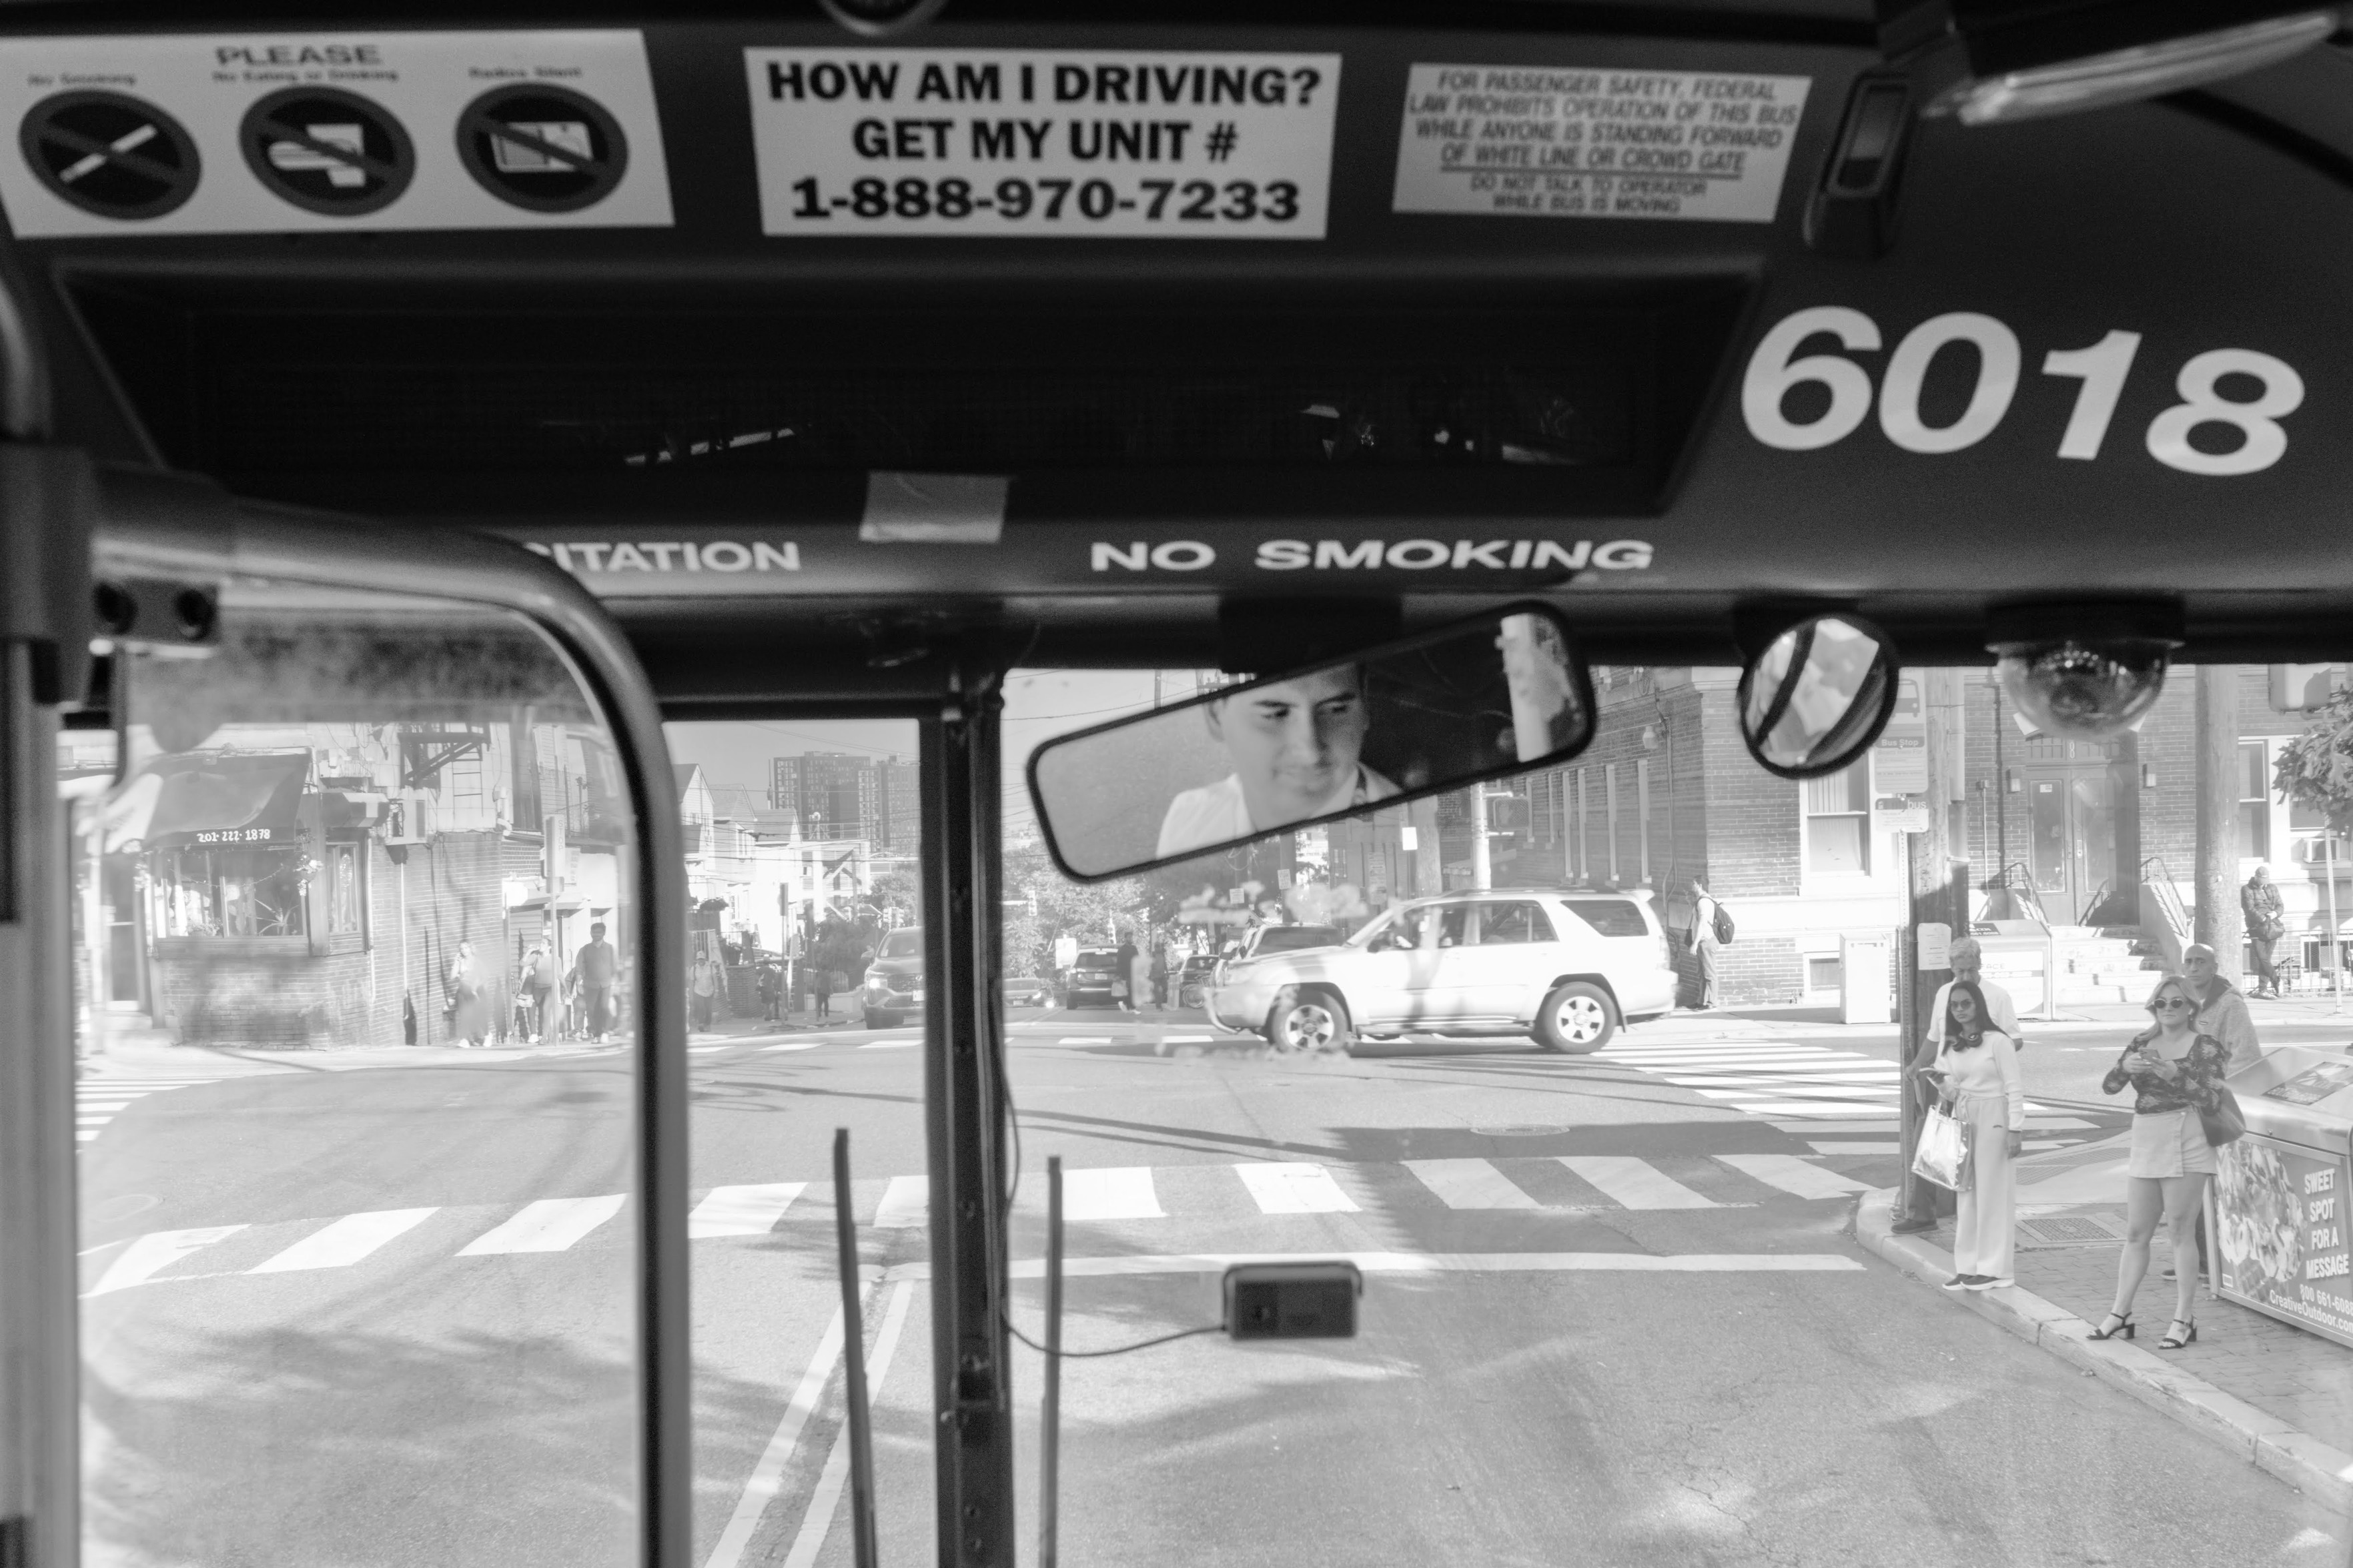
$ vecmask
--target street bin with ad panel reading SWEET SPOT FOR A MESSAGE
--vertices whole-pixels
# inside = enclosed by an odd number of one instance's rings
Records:
[[[2214,1152],[2221,1293],[2353,1345],[2353,1056],[2280,1046],[2226,1081],[2247,1135]]]

